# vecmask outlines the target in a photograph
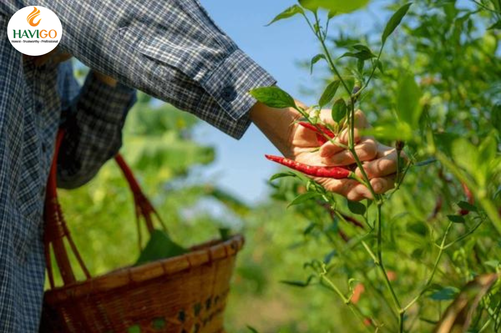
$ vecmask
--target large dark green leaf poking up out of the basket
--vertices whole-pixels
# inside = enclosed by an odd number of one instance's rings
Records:
[[[186,249],[174,243],[164,231],[153,230],[148,243],[134,265],[138,266],[150,261],[175,257],[186,252]]]

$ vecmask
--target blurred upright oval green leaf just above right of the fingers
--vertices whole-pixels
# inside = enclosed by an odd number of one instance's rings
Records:
[[[398,84],[397,116],[402,122],[416,129],[421,117],[422,108],[419,106],[421,90],[414,80],[414,75],[406,72]]]

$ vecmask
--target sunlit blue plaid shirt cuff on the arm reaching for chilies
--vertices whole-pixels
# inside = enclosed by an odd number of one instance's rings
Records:
[[[268,72],[239,49],[200,80],[202,88],[235,121],[248,116],[248,111],[257,102],[249,90],[276,83]]]

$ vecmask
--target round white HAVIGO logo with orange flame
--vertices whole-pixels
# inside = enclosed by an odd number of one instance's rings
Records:
[[[32,6],[22,8],[12,16],[7,35],[19,52],[28,56],[41,56],[58,46],[63,27],[53,11]]]

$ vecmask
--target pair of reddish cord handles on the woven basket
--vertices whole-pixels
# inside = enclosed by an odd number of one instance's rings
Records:
[[[61,148],[61,143],[64,138],[65,131],[60,129],[56,138],[56,146],[54,152],[54,158],[52,161],[49,178],[47,180],[47,189],[46,189],[46,198],[45,198],[45,210],[44,210],[44,221],[45,221],[45,230],[44,230],[44,243],[45,243],[45,258],[47,265],[47,273],[49,276],[49,282],[51,288],[55,287],[54,283],[54,272],[52,268],[52,260],[51,260],[51,247],[54,251],[54,257],[56,259],[56,264],[59,268],[61,277],[63,279],[63,283],[71,284],[76,282],[75,274],[73,268],[71,266],[68,251],[65,246],[64,239],[68,241],[71,250],[73,251],[80,268],[84,272],[86,279],[90,279],[91,275],[89,270],[85,266],[85,263],[73,242],[73,238],[71,237],[70,231],[66,224],[66,220],[63,216],[63,211],[61,209],[61,205],[59,204],[58,195],[57,195],[57,161],[59,155],[59,149]],[[115,161],[118,163],[120,169],[122,170],[127,183],[132,191],[134,197],[134,205],[135,205],[135,215],[136,215],[136,223],[138,230],[138,238],[139,238],[139,247],[141,247],[141,232],[140,232],[140,219],[144,218],[146,227],[148,232],[151,233],[154,229],[152,214],[156,216],[158,221],[160,222],[162,228],[166,230],[164,223],[162,222],[160,216],[156,212],[155,208],[148,200],[148,198],[144,195],[141,190],[137,180],[135,179],[132,171],[129,166],[123,159],[120,154],[115,156]]]

